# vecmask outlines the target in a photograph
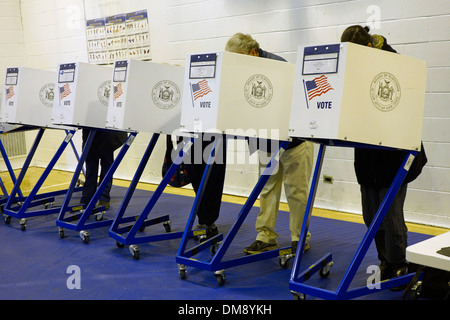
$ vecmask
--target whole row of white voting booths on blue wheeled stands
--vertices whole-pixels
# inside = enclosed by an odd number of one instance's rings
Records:
[[[56,225],[61,237],[65,236],[65,230],[75,230],[80,232],[83,242],[88,242],[88,230],[108,227],[116,244],[128,245],[134,258],[139,257],[140,243],[180,238],[176,253],[180,277],[186,278],[187,267],[199,268],[213,272],[219,284],[225,282],[227,268],[268,258],[278,258],[280,265],[285,267],[290,259],[294,259],[289,281],[294,297],[308,294],[325,299],[345,299],[373,292],[368,292],[367,288],[349,291],[348,287],[412,160],[420,151],[425,82],[422,61],[352,43],[299,46],[296,64],[230,52],[189,54],[184,68],[136,60],[116,61],[112,67],[76,62],[60,64],[56,72],[8,68],[1,116],[5,123],[34,126],[40,128],[39,132],[45,128],[66,130],[67,135],[49,164],[49,170],[78,129],[91,130],[85,148],[77,157],[70,186],[64,190],[63,204],[40,212],[58,213]],[[71,198],[79,188],[79,175],[93,137],[100,130],[126,131],[129,136],[94,198],[88,205],[80,207],[71,204]],[[95,204],[139,132],[149,132],[153,136],[115,218],[103,219],[104,208]],[[214,161],[217,139],[184,231],[172,231],[168,215],[153,217],[151,214],[170,178],[201,133],[270,139],[280,143],[247,201],[236,213],[235,223],[227,234],[220,233],[206,241],[192,243],[193,235],[202,232],[193,230],[193,225]],[[184,147],[177,151],[172,166],[142,212],[126,215],[160,134],[184,136]],[[311,140],[320,146],[300,236],[302,245],[297,252],[285,247],[224,259],[275,167],[279,150],[286,148],[292,137]],[[331,254],[326,254],[303,272],[300,269],[303,267],[301,259],[307,222],[326,146],[409,150],[336,292],[305,283],[311,273],[319,272],[323,277],[329,275],[333,264]],[[16,197],[21,177],[22,174],[3,207],[5,217],[23,219],[36,215],[27,211],[35,205],[36,193],[25,199]],[[95,221],[88,220],[91,215],[96,217]],[[10,218],[5,218],[5,222],[7,220]],[[143,228],[160,223],[164,225],[165,233],[139,235]],[[210,249],[211,257],[202,261],[197,254],[205,249]],[[407,275],[384,281],[381,288],[398,286],[411,278],[412,275]]]

